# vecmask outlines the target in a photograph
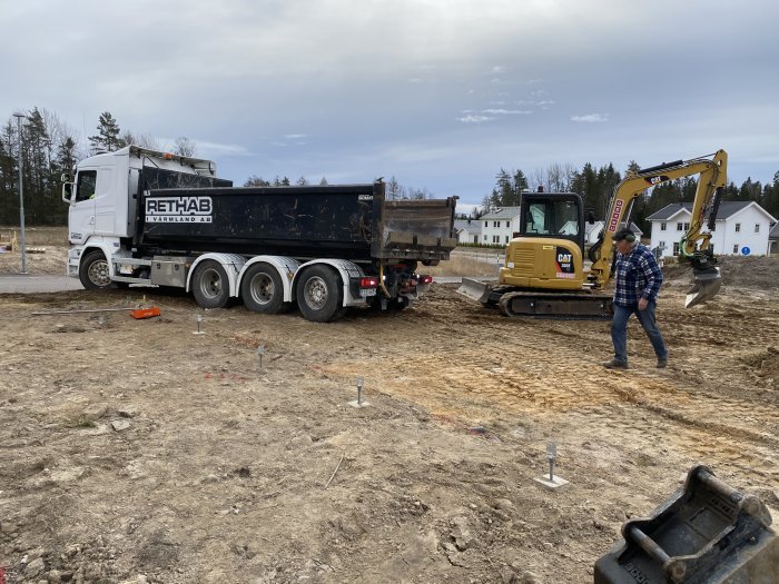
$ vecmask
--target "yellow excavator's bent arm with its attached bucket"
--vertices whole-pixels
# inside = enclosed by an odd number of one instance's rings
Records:
[[[592,267],[588,275],[589,284],[594,288],[604,288],[611,278],[611,264],[614,255],[614,234],[622,222],[627,222],[633,200],[648,188],[678,178],[700,175],[696,198],[692,204],[690,228],[681,240],[679,257],[691,264],[694,275],[693,288],[688,293],[686,306],[713,297],[720,287],[719,268],[709,246],[719,207],[720,196],[727,181],[728,154],[718,150],[713,155],[677,160],[670,164],[631,171],[614,188],[614,194],[607,214],[607,225],[599,241],[590,249]],[[709,217],[708,229],[703,231]]]

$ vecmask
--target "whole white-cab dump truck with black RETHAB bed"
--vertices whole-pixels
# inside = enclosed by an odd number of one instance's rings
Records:
[[[385,185],[234,187],[214,161],[129,146],[62,176],[68,275],[87,289],[183,288],[203,308],[243,300],[314,321],[403,309],[418,268],[456,246],[456,197],[387,200]]]

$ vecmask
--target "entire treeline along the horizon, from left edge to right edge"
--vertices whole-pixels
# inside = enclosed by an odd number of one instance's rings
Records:
[[[97,133],[88,138],[88,145],[80,145],[76,132],[45,109],[33,108],[24,112],[19,125],[17,118],[9,117],[0,129],[0,225],[13,225],[19,219],[19,152],[23,161],[24,217],[28,225],[66,225],[68,206],[61,200],[60,175],[70,172],[78,160],[99,151],[114,151],[135,143],[159,150],[154,138],[122,131],[110,112],[100,115]],[[19,131],[21,127],[21,132]],[[21,133],[21,136],[20,136]],[[179,137],[174,146],[175,154],[195,155],[195,143]],[[628,170],[638,169],[631,162]],[[530,176],[522,170],[501,169],[495,177],[492,192],[482,200],[481,214],[491,208],[516,206],[523,190],[535,190],[542,185],[549,192],[572,191],[584,197],[584,205],[599,219],[605,215],[607,206],[617,184],[622,179],[613,165],[600,168],[590,162],[580,170],[570,165],[552,165],[546,170],[536,170]],[[250,177],[245,186],[289,186],[289,178],[276,177],[264,180]],[[295,185],[308,185],[300,177]],[[322,178],[319,185],[327,185]],[[681,178],[654,187],[633,205],[632,220],[647,230],[645,218],[671,202],[691,201],[694,197],[697,179]],[[425,189],[402,186],[393,176],[386,184],[389,199],[426,199],[432,194]],[[773,181],[762,185],[748,178],[741,187],[730,182],[724,200],[753,200],[773,217],[779,217],[779,171]],[[476,215],[481,215],[476,214]]]

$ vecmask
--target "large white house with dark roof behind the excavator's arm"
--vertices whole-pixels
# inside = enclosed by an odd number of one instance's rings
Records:
[[[691,202],[667,205],[650,215],[651,248],[663,247],[665,257],[678,256],[681,238],[690,228]],[[768,234],[776,218],[755,201],[722,201],[717,212],[711,245],[722,256],[765,256],[769,254]],[[708,226],[703,226],[703,231]]]

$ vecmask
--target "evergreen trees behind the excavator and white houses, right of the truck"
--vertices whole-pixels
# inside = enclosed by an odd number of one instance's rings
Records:
[[[630,162],[628,170],[638,170],[635,162]],[[614,187],[622,180],[621,174],[613,165],[595,169],[590,162],[581,170],[570,166],[553,165],[545,171],[535,171],[527,178],[522,170],[511,172],[501,169],[495,176],[492,192],[482,199],[479,215],[496,207],[514,207],[520,204],[523,190],[535,190],[542,186],[546,192],[578,192],[584,199],[586,210],[592,210],[598,219],[605,217],[607,207]],[[644,232],[649,230],[647,217],[672,202],[692,202],[698,180],[684,177],[671,180],[650,189],[643,197],[635,199],[631,220]],[[773,181],[761,185],[748,178],[741,187],[732,181],[727,186],[722,200],[753,200],[773,217],[779,217],[779,171]]]

